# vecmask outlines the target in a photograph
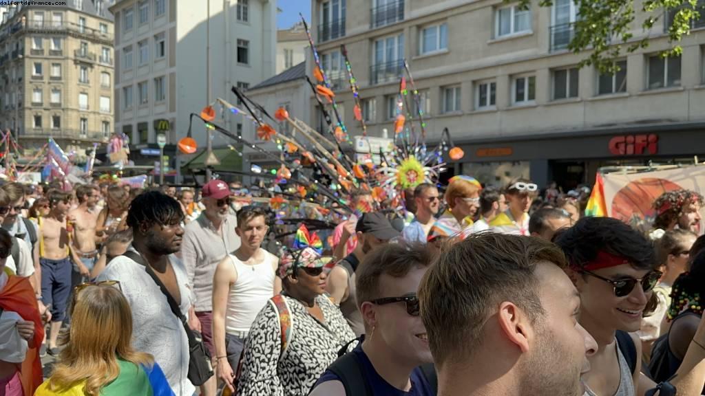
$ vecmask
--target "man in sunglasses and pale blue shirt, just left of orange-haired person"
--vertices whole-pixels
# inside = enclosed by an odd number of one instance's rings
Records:
[[[436,186],[430,183],[421,183],[413,194],[416,207],[414,220],[404,228],[402,237],[406,242],[425,244],[431,227],[436,222],[434,216],[439,213],[441,197]]]

